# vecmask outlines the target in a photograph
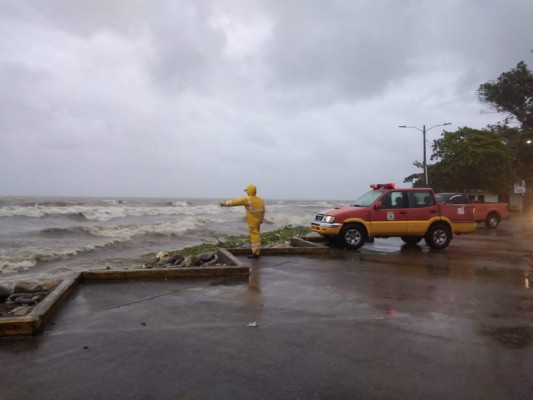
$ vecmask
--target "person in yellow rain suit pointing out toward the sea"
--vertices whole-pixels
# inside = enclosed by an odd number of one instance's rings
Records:
[[[257,196],[255,185],[248,185],[245,189],[247,196],[240,199],[226,200],[220,203],[222,207],[244,206],[246,208],[246,222],[250,241],[252,242],[252,254],[248,258],[259,258],[261,252],[260,227],[265,218],[265,202]]]

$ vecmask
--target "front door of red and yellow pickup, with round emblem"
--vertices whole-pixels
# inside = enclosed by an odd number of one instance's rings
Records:
[[[393,190],[385,193],[378,201],[381,201],[382,207],[370,209],[370,235],[405,235],[409,229],[407,192]]]

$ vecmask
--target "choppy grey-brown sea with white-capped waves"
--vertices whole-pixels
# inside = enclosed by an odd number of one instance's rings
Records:
[[[0,284],[140,266],[146,254],[247,234],[218,199],[0,197]],[[265,200],[262,231],[309,225],[338,202]],[[143,257],[144,256],[144,257]]]

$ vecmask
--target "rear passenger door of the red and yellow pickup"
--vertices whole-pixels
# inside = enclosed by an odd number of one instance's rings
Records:
[[[413,190],[409,198],[409,235],[418,236],[426,233],[429,220],[439,216],[439,206],[435,204],[430,190]]]

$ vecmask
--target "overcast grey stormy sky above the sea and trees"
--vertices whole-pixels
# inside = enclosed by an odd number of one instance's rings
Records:
[[[503,119],[476,90],[532,68],[532,15],[531,0],[0,0],[0,195],[401,184],[423,140],[398,125]]]

